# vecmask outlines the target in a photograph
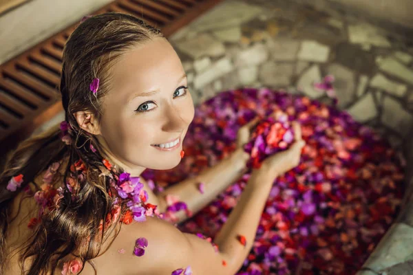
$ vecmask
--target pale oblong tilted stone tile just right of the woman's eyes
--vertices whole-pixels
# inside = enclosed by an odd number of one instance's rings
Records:
[[[216,63],[213,63],[209,69],[195,76],[193,84],[195,89],[200,89],[211,83],[213,80],[216,80],[222,76],[222,74],[227,74],[233,70],[233,64],[229,58],[221,58]]]

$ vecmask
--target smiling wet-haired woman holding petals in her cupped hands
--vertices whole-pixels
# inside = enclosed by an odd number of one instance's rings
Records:
[[[186,85],[173,47],[140,19],[111,12],[76,28],[63,52],[65,121],[22,142],[0,176],[1,274],[232,275],[240,269],[273,180],[298,164],[304,141],[295,124],[290,149],[253,170],[213,245],[180,232],[162,219],[165,199],[139,175],[180,163],[194,116]],[[189,210],[197,212],[242,175],[248,159],[242,144],[255,122],[240,129],[233,153],[198,177],[207,195]],[[226,186],[213,188],[214,179]],[[194,185],[188,180],[168,192],[189,200]]]

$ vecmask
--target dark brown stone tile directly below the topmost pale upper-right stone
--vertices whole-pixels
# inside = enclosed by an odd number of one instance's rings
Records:
[[[357,56],[357,58],[354,58]],[[370,52],[361,50],[358,45],[341,43],[335,50],[335,62],[340,63],[354,72],[371,76],[376,68],[374,55]]]

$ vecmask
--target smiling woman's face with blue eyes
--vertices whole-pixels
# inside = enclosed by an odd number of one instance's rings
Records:
[[[171,44],[153,39],[123,54],[112,67],[98,139],[128,173],[167,170],[180,162],[194,108],[187,77]],[[155,144],[171,146],[161,148]],[[167,145],[168,144],[168,145]]]

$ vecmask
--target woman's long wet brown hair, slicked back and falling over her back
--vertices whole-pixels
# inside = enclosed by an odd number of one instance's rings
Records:
[[[63,182],[70,174],[70,166],[79,159],[87,168],[85,181],[82,181],[74,201],[70,193],[65,192],[59,200],[59,206],[43,215],[32,237],[21,249],[19,263],[23,267],[25,260],[30,258],[32,264],[24,273],[39,275],[54,271],[59,260],[70,254],[78,257],[83,267],[86,261],[100,254],[105,241],[105,228],[99,230],[99,225],[112,210],[113,202],[108,194],[109,177],[99,177],[104,165],[98,140],[79,127],[73,114],[91,111],[99,121],[103,98],[111,89],[111,66],[123,53],[157,37],[165,39],[160,30],[136,17],[118,12],[90,17],[70,35],[63,49],[59,90],[65,120],[72,127],[73,142],[70,145],[62,142],[59,125],[56,125],[24,140],[8,155],[5,169],[0,175],[0,274],[6,272],[6,235],[12,233],[8,232],[8,225],[15,218],[10,217],[14,197],[36,175],[64,157],[68,158],[68,164]],[[96,97],[89,89],[93,78],[100,79]],[[96,153],[92,152],[90,144],[96,148]],[[16,192],[10,192],[6,189],[8,181],[19,174],[23,174],[23,184]]]

